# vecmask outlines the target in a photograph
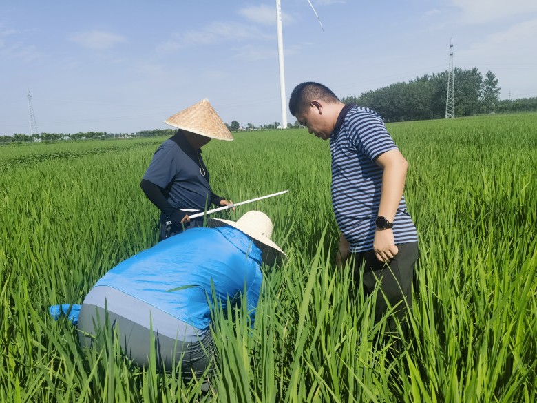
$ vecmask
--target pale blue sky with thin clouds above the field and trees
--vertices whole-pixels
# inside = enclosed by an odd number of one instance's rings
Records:
[[[454,65],[537,96],[536,0],[281,0],[286,99],[339,97]],[[456,83],[455,83],[456,85]],[[275,0],[0,0],[0,135],[131,133],[207,98],[224,122],[281,122]],[[288,114],[288,121],[295,119]]]

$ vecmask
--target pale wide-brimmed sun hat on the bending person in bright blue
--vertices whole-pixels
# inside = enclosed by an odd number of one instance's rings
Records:
[[[223,227],[224,225],[231,225],[243,232],[247,236],[257,241],[257,245],[262,250],[262,260],[267,265],[273,265],[277,262],[281,265],[286,259],[284,251],[276,245],[272,240],[272,220],[262,211],[252,210],[244,213],[237,221],[222,220],[220,218],[206,219],[207,227]]]

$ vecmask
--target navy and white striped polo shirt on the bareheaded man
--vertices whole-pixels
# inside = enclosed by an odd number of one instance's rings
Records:
[[[348,104],[330,134],[332,204],[341,234],[350,251],[373,249],[383,169],[375,163],[381,154],[397,149],[382,118],[367,107]],[[417,231],[404,196],[394,218],[396,244],[417,242]]]

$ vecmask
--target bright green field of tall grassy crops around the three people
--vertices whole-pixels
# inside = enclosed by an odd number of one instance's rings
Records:
[[[204,147],[216,193],[289,190],[220,213],[266,212],[289,260],[266,273],[253,328],[217,312],[207,393],[154,357],[134,366],[107,334],[81,349],[48,314],[156,243],[139,183],[165,138],[0,147],[0,401],[536,402],[537,114],[388,130],[410,164],[421,251],[398,358],[375,341],[372,301],[335,267],[328,142],[286,130]]]

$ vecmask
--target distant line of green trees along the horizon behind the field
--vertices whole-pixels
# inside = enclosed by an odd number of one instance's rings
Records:
[[[523,99],[499,99],[501,87],[493,72],[485,76],[477,68],[463,70],[453,69],[455,117],[473,116],[476,114],[536,112],[537,97]],[[344,103],[357,103],[375,110],[386,122],[423,121],[428,119],[445,118],[445,104],[448,90],[448,72],[425,74],[422,77],[403,83],[394,83],[378,90],[363,92],[359,96],[346,96],[341,99]],[[229,130],[275,130],[282,128],[280,123],[255,127],[248,123],[240,126],[238,121],[226,123]],[[299,127],[288,123],[288,128]],[[176,129],[142,130],[136,133],[107,133],[86,132],[75,134],[14,134],[0,136],[0,144],[29,143],[34,141],[59,141],[82,139],[107,139],[128,137],[173,136]]]

